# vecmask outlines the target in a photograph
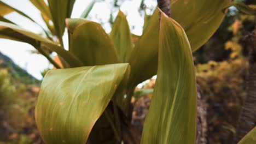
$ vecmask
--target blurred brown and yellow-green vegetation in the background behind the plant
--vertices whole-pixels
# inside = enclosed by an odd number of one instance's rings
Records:
[[[115,3],[118,7],[118,3]],[[143,3],[142,3],[143,5]],[[141,7],[143,9],[143,6]],[[254,17],[229,11],[213,37],[194,53],[196,76],[207,106],[208,143],[229,143],[245,98],[247,49],[244,36],[254,28]],[[113,23],[113,20],[109,20]],[[134,37],[133,37],[134,38]],[[23,72],[22,72],[23,71]],[[0,70],[0,143],[42,143],[34,123],[39,81],[4,59]],[[154,80],[142,89],[149,94],[132,98],[133,124],[142,130]],[[137,88],[136,91],[141,89]],[[146,96],[144,96],[146,95]]]

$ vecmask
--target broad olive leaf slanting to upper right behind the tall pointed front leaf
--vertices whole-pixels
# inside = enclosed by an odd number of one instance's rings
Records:
[[[171,1],[171,17],[184,28],[191,50],[199,49],[213,35],[224,18],[222,9],[230,0],[174,0]],[[131,82],[133,85],[156,75],[158,67],[158,11],[149,20],[141,39],[133,49]],[[143,71],[143,73],[141,73]]]

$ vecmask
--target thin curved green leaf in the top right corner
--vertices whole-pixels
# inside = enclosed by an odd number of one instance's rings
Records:
[[[256,10],[255,9],[250,8],[248,5],[246,5],[245,3],[240,2],[240,1],[232,1],[232,2],[230,2],[228,5],[226,5],[224,10],[226,8],[229,8],[229,7],[232,7],[232,6],[236,7],[242,13],[245,13],[247,15],[256,15]]]

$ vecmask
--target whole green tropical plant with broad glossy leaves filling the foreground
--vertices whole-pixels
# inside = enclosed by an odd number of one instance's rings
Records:
[[[45,37],[6,19],[5,15],[16,12],[34,22],[0,1],[0,38],[31,44],[57,68],[45,75],[36,106],[36,122],[45,143],[138,143],[129,121],[131,97],[138,83],[156,74],[141,143],[195,143],[196,82],[191,53],[217,30],[223,9],[232,5],[230,0],[170,1],[172,18],[160,10],[159,22],[156,9],[135,44],[121,11],[108,35],[96,22],[69,19],[75,0],[30,1],[48,27],[43,29]],[[83,18],[95,2],[84,10]],[[248,9],[242,3],[235,5]],[[68,51],[63,49],[65,27]],[[50,57],[52,51],[60,57],[62,69]]]

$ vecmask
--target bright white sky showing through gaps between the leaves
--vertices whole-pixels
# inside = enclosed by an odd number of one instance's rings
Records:
[[[42,18],[40,17],[40,12],[30,3],[29,0],[1,0],[12,7],[21,10],[32,19],[36,20],[41,26],[46,28]],[[87,7],[87,5],[91,2],[91,0],[76,0],[74,4],[74,8],[72,11],[72,18],[78,18],[83,13],[83,10]],[[91,21],[96,21],[103,24],[103,28],[107,33],[111,31],[110,24],[108,23],[110,13],[114,13],[114,17],[118,13],[118,9],[113,9],[112,4],[113,0],[105,0],[104,2],[100,1],[94,5],[91,13],[88,16],[88,19]],[[155,8],[156,1],[154,0],[145,0],[145,4],[147,4],[148,8]],[[127,21],[129,22],[129,26],[131,32],[133,34],[141,35],[142,27],[143,27],[143,14],[138,12],[139,5],[141,1],[139,0],[123,0],[121,1],[120,9],[127,16]],[[147,14],[150,14],[150,10],[147,9]],[[18,23],[19,26],[25,28],[34,33],[43,33],[42,29],[26,19],[25,17],[19,16],[16,13],[11,13],[5,16],[5,18]],[[63,41],[65,48],[68,49],[68,41],[67,41],[67,32],[63,35]],[[52,68],[53,66],[48,62],[48,60],[42,55],[38,55],[36,53],[31,53],[34,50],[29,44],[21,43],[18,41],[0,39],[0,52],[4,55],[7,55],[13,61],[18,64],[21,68],[27,70],[28,73],[36,77],[37,79],[42,79],[41,72],[44,69]]]

